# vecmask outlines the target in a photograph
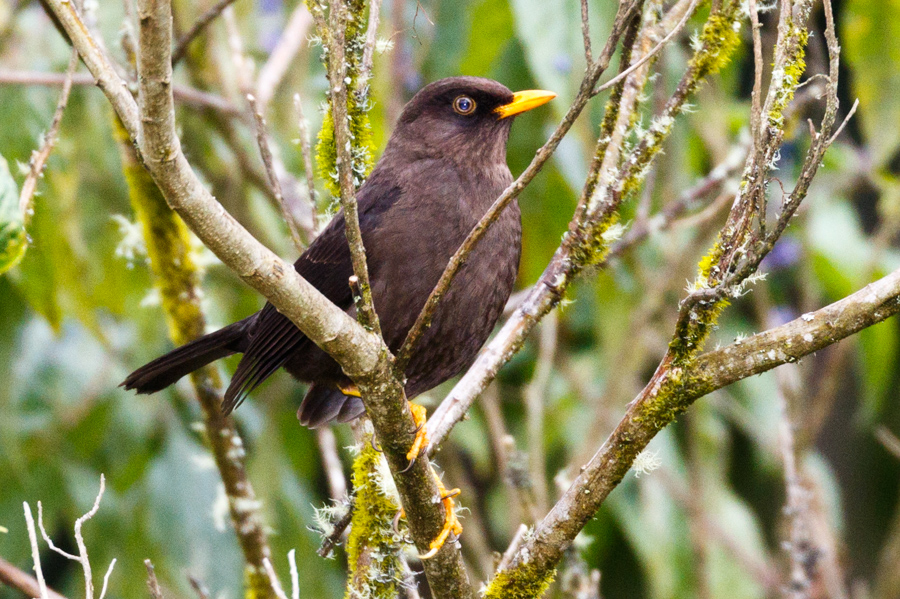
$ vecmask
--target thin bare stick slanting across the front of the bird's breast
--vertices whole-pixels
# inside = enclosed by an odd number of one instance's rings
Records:
[[[454,277],[457,272],[459,272],[466,257],[472,253],[475,246],[481,241],[481,238],[484,237],[484,234],[490,226],[500,217],[500,214],[506,210],[509,204],[518,197],[525,186],[534,179],[538,172],[540,172],[544,163],[546,163],[550,156],[553,155],[553,152],[556,151],[556,148],[559,146],[563,137],[565,137],[569,132],[569,129],[571,129],[572,125],[575,123],[575,119],[577,119],[581,114],[581,111],[584,110],[588,100],[591,98],[591,90],[597,84],[600,75],[602,75],[609,66],[609,61],[615,52],[619,38],[624,32],[625,25],[632,16],[633,8],[636,4],[637,3],[633,1],[627,5],[624,2],[619,5],[619,12],[616,15],[616,21],[613,24],[613,30],[607,39],[606,46],[603,48],[600,57],[590,66],[585,74],[578,95],[575,97],[572,106],[569,107],[569,110],[563,117],[562,122],[557,126],[553,135],[547,140],[547,143],[541,146],[535,153],[528,168],[526,168],[522,174],[503,191],[500,197],[494,201],[487,213],[480,221],[478,221],[478,224],[475,225],[463,244],[450,258],[447,268],[444,270],[440,280],[437,285],[435,285],[428,300],[425,302],[425,306],[416,318],[415,324],[409,330],[409,333],[407,333],[406,339],[403,341],[403,346],[400,348],[400,351],[397,352],[397,358],[394,363],[398,373],[403,373],[406,370],[406,366],[412,357],[412,352],[415,350],[416,344],[425,333],[425,330],[431,325],[431,319],[434,316],[438,304],[450,288]],[[429,435],[431,434],[430,429],[431,426],[429,426]],[[431,438],[433,439],[433,437]],[[433,442],[432,445],[434,445]]]

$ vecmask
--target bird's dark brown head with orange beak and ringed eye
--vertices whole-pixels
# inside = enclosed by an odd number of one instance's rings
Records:
[[[505,164],[512,117],[555,97],[541,90],[513,93],[481,77],[441,79],[422,88],[404,107],[387,151],[400,146],[416,158]]]

